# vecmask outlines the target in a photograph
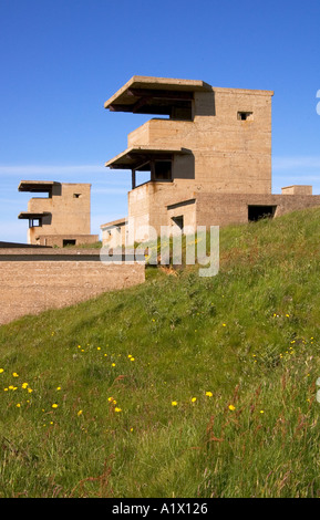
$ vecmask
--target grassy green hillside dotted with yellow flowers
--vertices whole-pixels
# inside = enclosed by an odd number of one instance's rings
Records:
[[[320,209],[0,327],[0,498],[318,497]],[[320,387],[319,387],[320,389]]]

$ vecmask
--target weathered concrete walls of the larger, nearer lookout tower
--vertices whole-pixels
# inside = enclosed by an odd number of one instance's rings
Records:
[[[271,194],[271,98],[269,91],[213,87],[195,93],[193,121],[153,118],[132,132],[128,147],[192,152],[174,156],[172,181],[128,193],[135,228],[149,225],[159,231],[168,225],[167,206],[195,194]],[[241,121],[241,112],[251,116]]]

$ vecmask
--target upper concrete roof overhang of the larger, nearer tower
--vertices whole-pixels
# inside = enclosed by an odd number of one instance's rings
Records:
[[[169,115],[173,106],[186,105],[195,92],[203,91],[211,91],[211,86],[203,81],[133,76],[104,107],[112,112]]]

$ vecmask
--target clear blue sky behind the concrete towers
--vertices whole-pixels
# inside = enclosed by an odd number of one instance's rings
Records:
[[[103,103],[133,75],[275,91],[273,193],[320,194],[320,2],[0,0],[0,240],[27,240],[21,179],[92,183],[92,232],[127,212],[104,163],[148,116]]]

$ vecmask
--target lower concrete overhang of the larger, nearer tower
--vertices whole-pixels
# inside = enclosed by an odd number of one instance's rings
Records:
[[[189,154],[192,152],[187,148],[132,147],[105,163],[105,166],[113,169],[135,169],[151,160],[172,160],[174,155]]]

